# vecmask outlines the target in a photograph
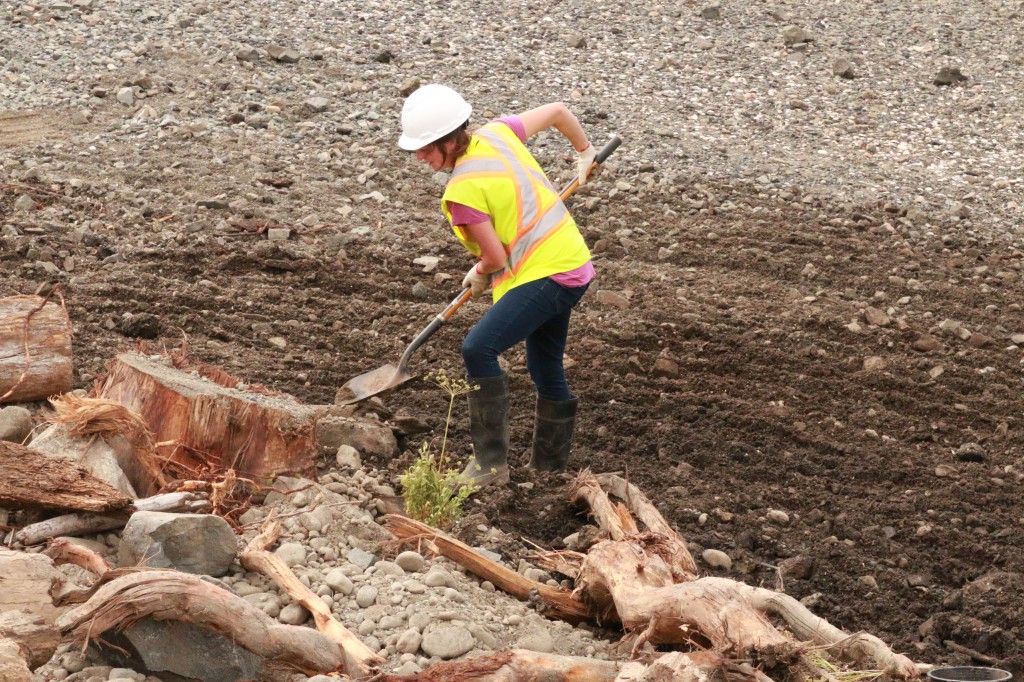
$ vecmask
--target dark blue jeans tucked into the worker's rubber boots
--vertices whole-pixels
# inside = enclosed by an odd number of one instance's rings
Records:
[[[462,342],[470,380],[499,376],[498,356],[525,339],[526,368],[538,394],[549,400],[572,399],[562,358],[569,314],[589,286],[563,287],[544,278],[506,292]]]

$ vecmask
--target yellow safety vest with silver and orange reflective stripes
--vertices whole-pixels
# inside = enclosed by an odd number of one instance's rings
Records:
[[[497,302],[519,285],[568,272],[590,260],[590,250],[558,191],[504,123],[488,123],[473,133],[466,153],[455,164],[441,210],[449,223],[447,203],[456,202],[490,216],[508,264],[492,287]],[[480,247],[461,226],[452,225],[470,253]]]

